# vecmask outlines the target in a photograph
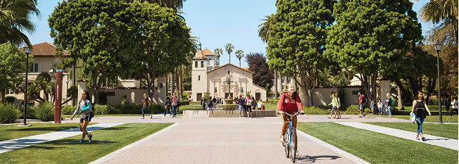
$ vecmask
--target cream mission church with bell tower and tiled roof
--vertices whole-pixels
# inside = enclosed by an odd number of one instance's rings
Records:
[[[251,92],[257,101],[266,101],[267,89],[253,84],[253,72],[230,63],[215,68],[215,54],[199,49],[192,59],[191,99],[201,101],[204,93],[212,97],[246,96]]]

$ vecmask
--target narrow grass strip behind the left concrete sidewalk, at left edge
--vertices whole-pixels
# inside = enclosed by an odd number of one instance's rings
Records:
[[[94,125],[94,124],[96,123],[89,123],[89,125]],[[18,125],[19,124],[0,125],[0,141],[6,141],[10,139],[19,139],[23,137],[38,135],[38,134],[58,132],[61,130],[68,130],[68,129],[80,127],[80,123],[65,123],[65,124],[28,123],[28,125],[32,125],[30,127],[18,127]]]

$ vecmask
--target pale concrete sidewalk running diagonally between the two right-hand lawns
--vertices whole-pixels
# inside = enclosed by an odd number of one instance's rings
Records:
[[[429,134],[424,134],[425,141],[416,139],[416,132],[408,132],[405,130],[396,130],[389,127],[381,127],[377,125],[364,124],[360,122],[337,122],[341,125],[346,125],[349,127],[356,127],[363,130],[369,130],[372,132],[379,132],[382,134],[391,135],[394,137],[400,137],[402,139],[409,139],[412,141],[419,141],[425,144],[431,144],[436,146],[445,147],[448,149],[458,150],[458,140],[457,139],[448,139],[445,137],[436,137]]]

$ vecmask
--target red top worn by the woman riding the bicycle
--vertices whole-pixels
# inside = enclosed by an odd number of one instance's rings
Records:
[[[287,95],[287,93],[282,93],[280,95],[279,103],[277,103],[277,112],[283,111],[293,115],[296,113],[296,108],[298,108],[298,112],[303,111],[303,104],[301,103],[301,99],[298,94],[296,94],[295,99],[293,97],[290,98],[289,96],[284,98],[285,95]]]

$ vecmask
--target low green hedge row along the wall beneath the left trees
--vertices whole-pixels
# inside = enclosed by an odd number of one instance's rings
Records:
[[[182,101],[180,101],[182,104]],[[75,112],[76,106],[62,106],[62,114],[63,115],[73,115]],[[110,106],[110,105],[94,105],[94,111],[96,115],[108,115],[108,114],[142,114],[142,105],[127,103],[118,106]],[[164,107],[158,104],[153,104],[149,106],[149,113],[156,114],[156,113],[163,113]]]

